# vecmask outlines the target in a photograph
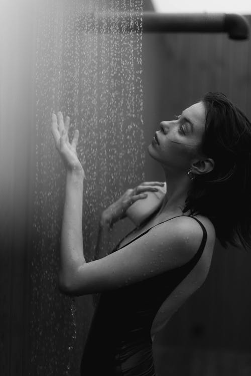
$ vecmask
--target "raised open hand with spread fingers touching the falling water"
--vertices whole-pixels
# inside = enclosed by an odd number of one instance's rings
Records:
[[[72,142],[70,143],[68,137],[69,125],[69,116],[66,116],[64,123],[61,112],[58,112],[58,116],[54,113],[52,114],[51,132],[54,137],[56,149],[63,160],[65,168],[67,171],[76,172],[84,178],[84,170],[77,157],[76,151],[79,131],[78,129],[75,130]]]

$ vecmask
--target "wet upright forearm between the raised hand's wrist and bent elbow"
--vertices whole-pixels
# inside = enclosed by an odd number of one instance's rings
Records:
[[[65,203],[61,230],[60,271],[61,286],[67,286],[77,269],[85,263],[82,234],[83,177],[67,172]]]

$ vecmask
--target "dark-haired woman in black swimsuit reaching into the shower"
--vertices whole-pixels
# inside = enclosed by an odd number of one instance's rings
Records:
[[[205,281],[215,237],[224,247],[251,244],[250,123],[224,94],[210,92],[175,120],[161,122],[148,151],[165,172],[162,205],[109,255],[88,263],[78,131],[70,144],[69,117],[64,124],[60,112],[58,121],[52,115],[51,129],[67,170],[59,285],[69,295],[101,293],[81,374],[153,376],[152,342]],[[103,212],[97,250],[127,209],[162,184],[142,183]]]

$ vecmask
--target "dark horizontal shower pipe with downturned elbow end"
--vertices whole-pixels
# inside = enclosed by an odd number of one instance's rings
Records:
[[[118,31],[140,31],[139,13],[90,14],[100,32],[104,24],[115,22]],[[227,33],[229,39],[246,40],[249,37],[249,24],[244,16],[222,13],[155,13],[143,12],[143,33]],[[133,21],[133,22],[132,22]],[[91,23],[89,31],[91,31]],[[113,29],[114,30],[114,29]]]

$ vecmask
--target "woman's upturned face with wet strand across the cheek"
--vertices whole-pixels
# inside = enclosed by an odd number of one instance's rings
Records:
[[[160,131],[148,146],[149,154],[163,166],[187,172],[200,159],[199,146],[205,130],[206,111],[202,102],[186,108],[177,118],[160,123]]]

